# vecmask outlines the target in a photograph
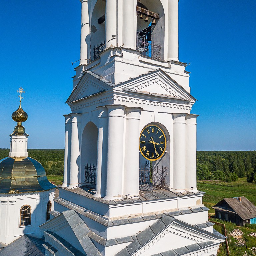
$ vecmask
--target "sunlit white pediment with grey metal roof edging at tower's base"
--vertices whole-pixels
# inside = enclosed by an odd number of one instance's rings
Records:
[[[136,238],[119,253],[126,256],[151,256],[159,253],[174,256],[200,251],[224,241],[223,237],[168,216],[136,234]]]

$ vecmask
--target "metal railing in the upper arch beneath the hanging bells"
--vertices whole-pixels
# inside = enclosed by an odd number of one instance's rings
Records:
[[[161,60],[161,45],[151,41],[151,32],[137,31],[137,47],[141,55]]]

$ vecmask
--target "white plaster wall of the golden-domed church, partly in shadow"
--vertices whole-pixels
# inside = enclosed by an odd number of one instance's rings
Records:
[[[0,241],[9,244],[24,234],[41,238],[43,233],[39,225],[46,222],[48,201],[54,207],[54,190],[30,194],[13,194],[0,196]],[[24,205],[31,207],[31,225],[19,227],[20,209]]]

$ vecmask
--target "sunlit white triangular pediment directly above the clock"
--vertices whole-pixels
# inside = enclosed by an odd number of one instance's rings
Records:
[[[131,93],[184,100],[193,103],[196,101],[190,93],[161,69],[126,81],[122,83],[121,86],[117,86],[116,89]]]

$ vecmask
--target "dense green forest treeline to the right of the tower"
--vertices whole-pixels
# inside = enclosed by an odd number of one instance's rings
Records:
[[[197,179],[256,182],[256,151],[197,151]]]

